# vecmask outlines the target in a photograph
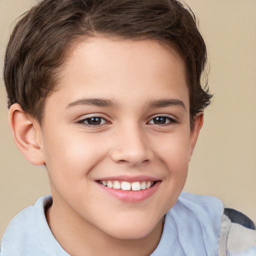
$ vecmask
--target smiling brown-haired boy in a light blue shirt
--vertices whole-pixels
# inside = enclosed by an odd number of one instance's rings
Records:
[[[255,255],[246,216],[181,192],[211,98],[205,61],[175,0],[33,7],[11,35],[4,81],[14,141],[45,165],[52,196],[13,218],[1,256]]]

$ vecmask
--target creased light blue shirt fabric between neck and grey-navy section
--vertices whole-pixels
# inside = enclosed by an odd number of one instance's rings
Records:
[[[181,192],[166,213],[163,235],[168,229],[168,239],[176,237],[171,244],[185,255],[217,255],[222,214],[223,203],[218,198]]]

